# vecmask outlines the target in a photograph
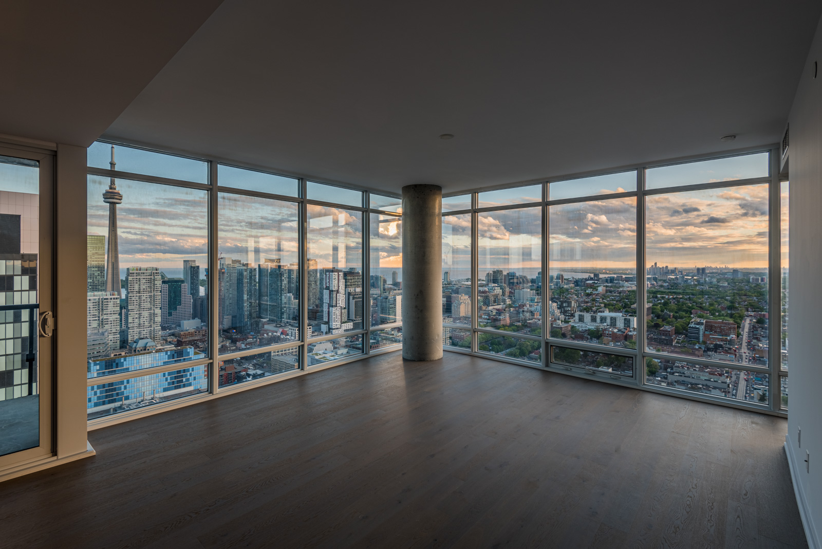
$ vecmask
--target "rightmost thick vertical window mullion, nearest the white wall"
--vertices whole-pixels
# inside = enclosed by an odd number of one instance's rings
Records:
[[[782,363],[782,185],[779,182],[779,152],[770,153],[771,181],[768,193],[768,367],[770,408],[782,406],[782,385],[778,372]]]

